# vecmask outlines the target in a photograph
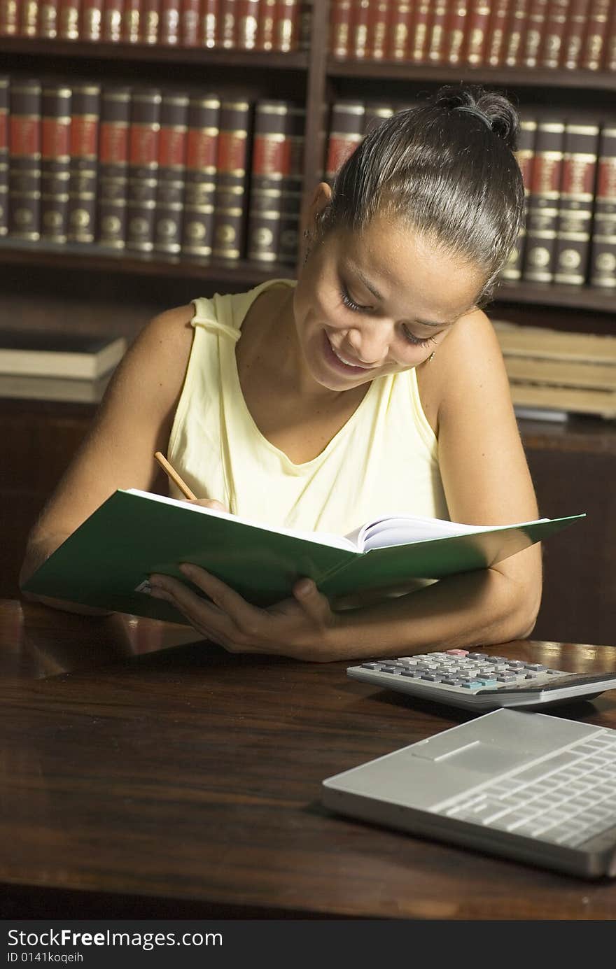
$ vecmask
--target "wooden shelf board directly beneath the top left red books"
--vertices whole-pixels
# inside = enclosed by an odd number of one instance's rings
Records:
[[[167,47],[144,44],[103,44],[96,41],[41,40],[28,37],[0,38],[0,53],[77,60],[121,60],[164,64],[203,64],[220,67],[251,67],[274,71],[308,70],[308,51],[221,50],[207,47]]]

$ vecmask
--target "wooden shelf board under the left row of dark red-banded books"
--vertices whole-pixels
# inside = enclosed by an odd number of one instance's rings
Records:
[[[177,279],[201,279],[216,283],[257,286],[266,279],[288,278],[294,266],[251,263],[199,263],[178,258],[139,256],[133,252],[106,252],[94,246],[43,246],[36,242],[0,243],[0,264],[48,266],[57,269],[87,269],[96,272],[119,272],[127,275],[166,276]]]

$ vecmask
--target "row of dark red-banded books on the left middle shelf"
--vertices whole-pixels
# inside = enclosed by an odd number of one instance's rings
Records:
[[[294,266],[304,116],[289,101],[0,78],[0,235]]]

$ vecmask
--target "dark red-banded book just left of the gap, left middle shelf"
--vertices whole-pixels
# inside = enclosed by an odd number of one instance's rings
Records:
[[[221,101],[211,250],[216,260],[243,255],[249,126],[248,101]]]

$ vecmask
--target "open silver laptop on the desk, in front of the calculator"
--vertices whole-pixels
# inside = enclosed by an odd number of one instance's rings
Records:
[[[410,834],[616,875],[616,730],[499,709],[328,777],[322,797]]]

